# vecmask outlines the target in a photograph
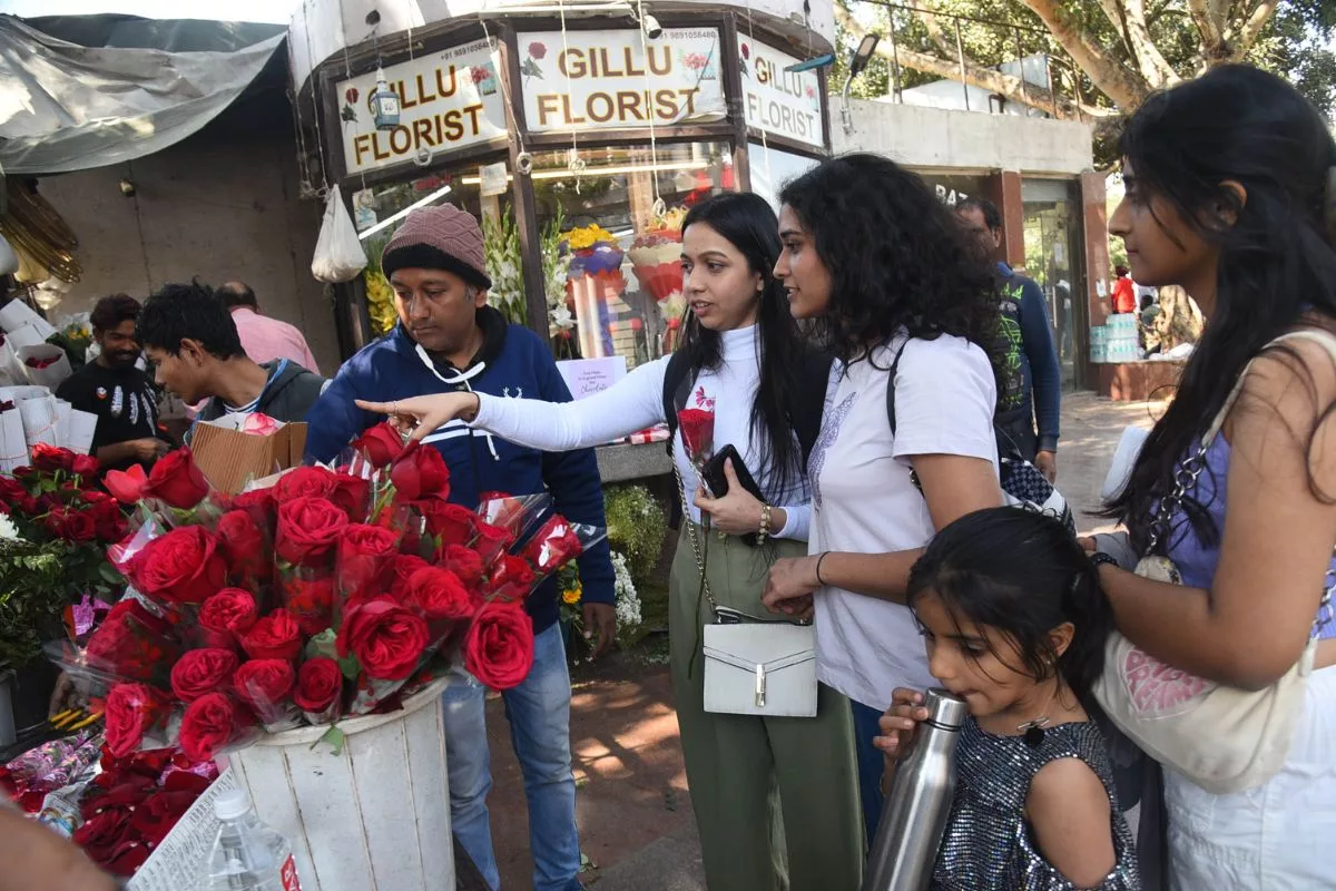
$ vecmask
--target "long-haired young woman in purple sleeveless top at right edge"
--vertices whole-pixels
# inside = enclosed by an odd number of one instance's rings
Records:
[[[1224,65],[1146,100],[1121,150],[1126,196],[1109,230],[1136,279],[1182,286],[1206,327],[1110,505],[1137,553],[1168,558],[1182,585],[1101,566],[1118,629],[1172,668],[1244,689],[1269,687],[1320,639],[1275,777],[1214,795],[1165,771],[1173,882],[1325,887],[1336,838],[1336,622],[1324,605],[1336,577],[1336,142],[1293,87]]]

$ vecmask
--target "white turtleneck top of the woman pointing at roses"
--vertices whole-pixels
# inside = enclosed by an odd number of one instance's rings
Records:
[[[751,410],[760,383],[758,327],[723,331],[723,359],[716,369],[701,369],[696,375],[688,407],[699,399],[715,402],[715,449],[732,445],[743,456],[756,485],[770,504],[783,508],[787,521],[776,537],[807,540],[811,517],[807,480],[790,474],[788,492],[775,492],[768,473],[758,468],[758,453],[751,435]],[[512,399],[478,393],[478,415],[472,426],[502,439],[544,452],[585,449],[629,435],[667,421],[664,418],[664,375],[671,357],[641,365],[612,387],[578,402],[541,402]],[[795,435],[795,452],[798,449]],[[673,438],[673,462],[693,500],[699,488],[696,469],[687,460],[681,430]],[[691,518],[700,522],[700,510],[688,505]]]

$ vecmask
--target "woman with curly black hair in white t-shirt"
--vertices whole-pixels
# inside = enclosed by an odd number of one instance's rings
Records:
[[[998,305],[950,210],[886,158],[827,160],[780,200],[775,277],[838,362],[807,468],[810,556],[775,564],[766,604],[815,612],[818,677],[852,703],[871,838],[878,719],[896,687],[934,685],[904,605],[910,568],[937,529],[1002,504],[986,346]]]

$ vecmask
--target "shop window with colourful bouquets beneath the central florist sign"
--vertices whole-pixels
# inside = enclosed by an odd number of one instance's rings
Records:
[[[729,146],[544,152],[532,180],[557,358],[621,357],[632,369],[676,349],[681,218],[735,188]]]

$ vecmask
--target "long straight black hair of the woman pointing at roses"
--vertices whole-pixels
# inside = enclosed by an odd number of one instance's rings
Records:
[[[708,198],[687,214],[681,231],[701,223],[719,232],[747,258],[752,273],[762,277],[760,306],[756,311],[756,338],[760,383],[752,402],[751,431],[756,443],[759,469],[767,474],[775,492],[786,492],[802,474],[798,442],[788,406],[796,393],[799,363],[795,357],[811,349],[803,345],[788,297],[775,278],[779,259],[779,219],[760,195],[721,192]],[[693,373],[717,367],[723,359],[723,338],[704,327],[688,311],[683,326],[681,349]]]

